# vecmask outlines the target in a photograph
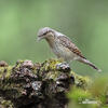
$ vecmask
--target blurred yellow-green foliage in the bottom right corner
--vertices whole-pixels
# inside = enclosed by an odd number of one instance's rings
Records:
[[[108,108],[108,78],[95,79],[85,90],[72,86],[67,96],[70,98],[69,108]]]

